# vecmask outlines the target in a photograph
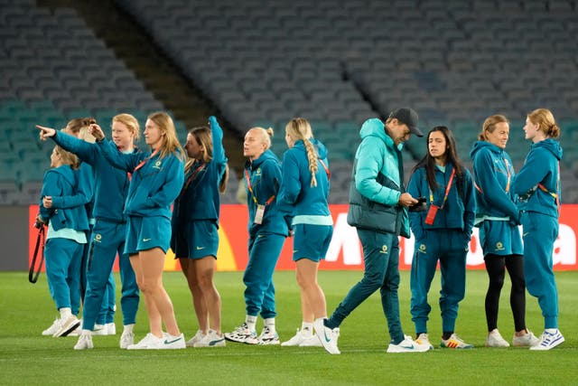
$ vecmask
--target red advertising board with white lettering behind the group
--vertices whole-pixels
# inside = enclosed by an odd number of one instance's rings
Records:
[[[363,269],[363,253],[355,228],[347,223],[347,204],[330,205],[333,217],[333,238],[326,259],[321,269]],[[30,221],[33,223],[38,206],[31,205]],[[560,233],[555,241],[555,270],[578,269],[576,262],[576,234],[578,233],[578,204],[564,204],[560,216]],[[34,250],[38,231],[31,225],[29,231],[30,258]],[[247,266],[247,207],[239,204],[222,205],[219,229],[219,252],[217,269],[220,271],[244,270]],[[409,269],[414,253],[414,240],[400,238],[399,268]],[[288,238],[284,243],[277,269],[294,269],[292,260],[293,240]],[[468,268],[484,268],[483,255],[478,240],[478,229],[474,229],[468,254]],[[117,264],[115,265],[117,269]],[[174,259],[171,250],[167,253],[165,270],[180,269],[178,260]]]

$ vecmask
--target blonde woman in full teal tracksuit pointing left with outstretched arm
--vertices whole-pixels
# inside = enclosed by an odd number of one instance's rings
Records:
[[[63,148],[79,155],[84,164],[91,165],[95,173],[95,196],[93,216],[95,224],[89,246],[87,267],[87,291],[84,299],[82,330],[75,349],[92,348],[91,333],[98,322],[98,305],[107,301],[108,282],[118,254],[122,282],[120,304],[123,313],[123,334],[120,348],[134,343],[133,327],[138,309],[139,295],[135,271],[124,253],[126,237],[126,214],[123,213],[129,179],[125,171],[108,163],[97,144],[59,133],[49,127],[39,127],[42,137],[51,137]],[[119,114],[112,119],[112,139],[119,152],[135,153],[135,139],[139,137],[138,121],[129,114]],[[115,293],[113,291],[113,299]],[[112,304],[114,305],[114,301]],[[106,322],[112,322],[107,320]]]

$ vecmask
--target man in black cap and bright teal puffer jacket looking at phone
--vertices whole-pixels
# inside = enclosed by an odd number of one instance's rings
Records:
[[[329,319],[323,321],[320,340],[326,350],[337,347],[339,326],[357,306],[380,289],[391,341],[387,353],[415,353],[429,347],[415,344],[405,335],[399,319],[398,236],[409,237],[407,208],[418,201],[406,193],[401,149],[412,134],[423,137],[417,128],[417,114],[398,108],[385,124],[368,119],[359,132],[361,144],[355,155],[350,187],[348,222],[355,226],[363,246],[365,272],[350,289]],[[317,329],[317,331],[320,331]],[[333,347],[335,346],[335,347]]]

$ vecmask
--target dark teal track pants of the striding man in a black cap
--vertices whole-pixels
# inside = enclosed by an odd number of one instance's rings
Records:
[[[399,319],[399,240],[392,233],[379,233],[358,229],[359,240],[363,246],[365,272],[358,284],[337,306],[327,320],[330,328],[340,326],[343,320],[365,299],[378,289],[381,293],[381,306],[387,318],[389,336],[394,344],[404,340],[404,332]]]

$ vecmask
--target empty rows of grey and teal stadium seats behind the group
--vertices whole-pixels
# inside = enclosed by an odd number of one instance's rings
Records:
[[[347,201],[361,123],[401,106],[415,108],[424,129],[452,128],[466,165],[483,119],[505,114],[517,168],[529,149],[522,132],[527,112],[552,109],[563,132],[563,199],[578,202],[576,1],[113,3],[238,137],[249,127],[274,127],[273,150],[281,156],[285,122],[310,119],[330,150],[331,202]],[[144,80],[154,69],[119,60],[84,14],[32,0],[0,4],[0,202],[14,203],[26,200],[19,193],[33,190],[29,182],[42,179],[48,146],[36,142],[34,123],[62,126],[87,114],[107,120],[119,109],[142,119],[166,106]],[[407,178],[424,141],[412,138],[406,150]],[[232,194],[227,201],[234,202]]]

